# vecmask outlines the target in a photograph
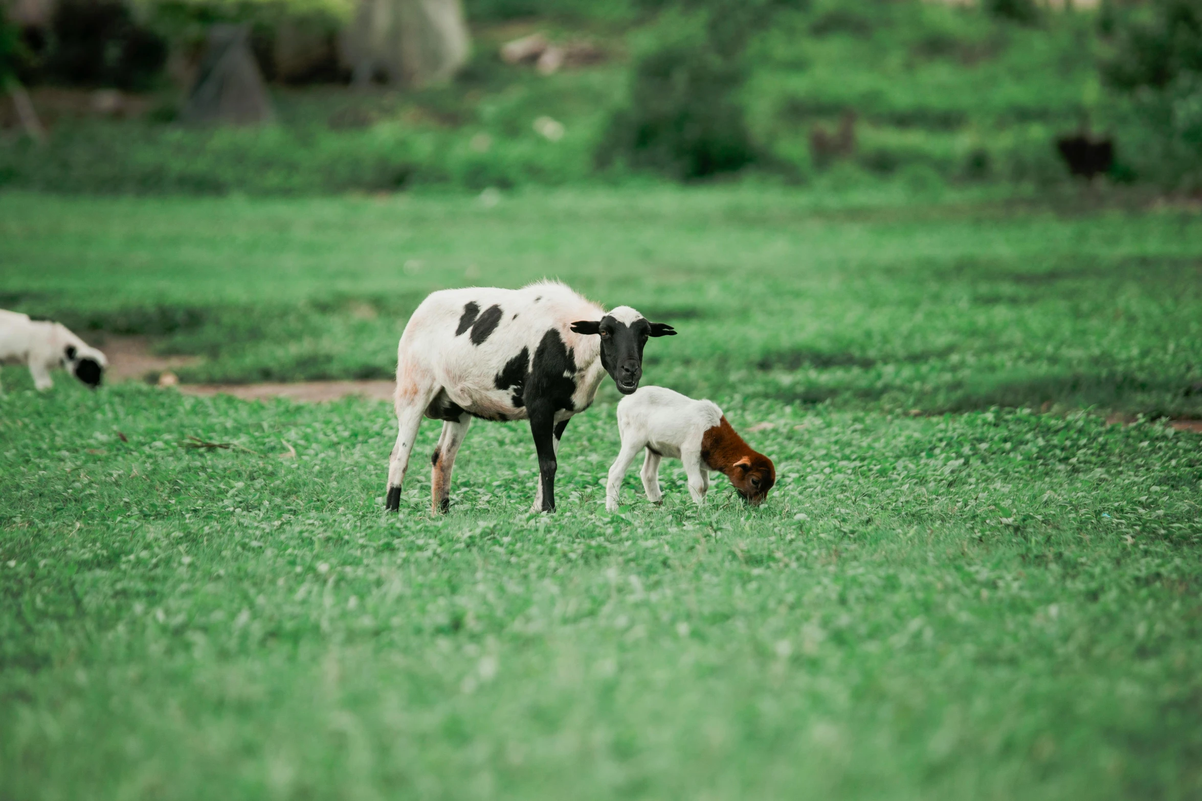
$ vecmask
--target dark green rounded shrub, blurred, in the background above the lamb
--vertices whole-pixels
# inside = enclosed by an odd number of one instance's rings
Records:
[[[755,161],[736,94],[744,72],[706,48],[672,44],[635,68],[631,103],[614,114],[597,154],[679,180],[740,169]]]

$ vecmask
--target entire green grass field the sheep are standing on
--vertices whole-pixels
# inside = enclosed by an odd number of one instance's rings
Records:
[[[902,181],[2,193],[0,306],[185,381],[387,376],[439,287],[630,303],[780,483],[606,514],[608,385],[553,516],[522,424],[432,516],[427,423],[398,519],[386,405],[5,367],[0,797],[1200,797],[1202,437],[1152,422],[1202,417],[1200,264],[1189,208]]]

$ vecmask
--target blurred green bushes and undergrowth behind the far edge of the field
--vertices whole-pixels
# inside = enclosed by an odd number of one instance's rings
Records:
[[[85,72],[70,65],[87,62],[103,85],[156,89],[115,115],[48,108],[44,148],[11,135],[0,145],[0,184],[321,193],[612,181],[644,171],[918,189],[1054,184],[1070,180],[1057,137],[1091,128],[1115,139],[1115,177],[1192,190],[1202,185],[1200,4],[1093,12],[1019,0],[465,0],[474,53],[453,84],[351,91],[329,2],[173,0],[106,12],[113,32],[99,54],[79,48],[69,58],[70,48],[55,48],[70,26],[54,34],[37,65],[42,80],[70,83]],[[174,121],[178,83],[151,37],[169,42],[175,64],[204,24],[230,14],[252,25],[256,56],[276,83],[278,124],[184,127]],[[502,43],[532,32],[587,40],[602,58],[554,74],[501,61]],[[297,42],[325,60],[290,60]],[[313,82],[328,85],[284,85]]]

